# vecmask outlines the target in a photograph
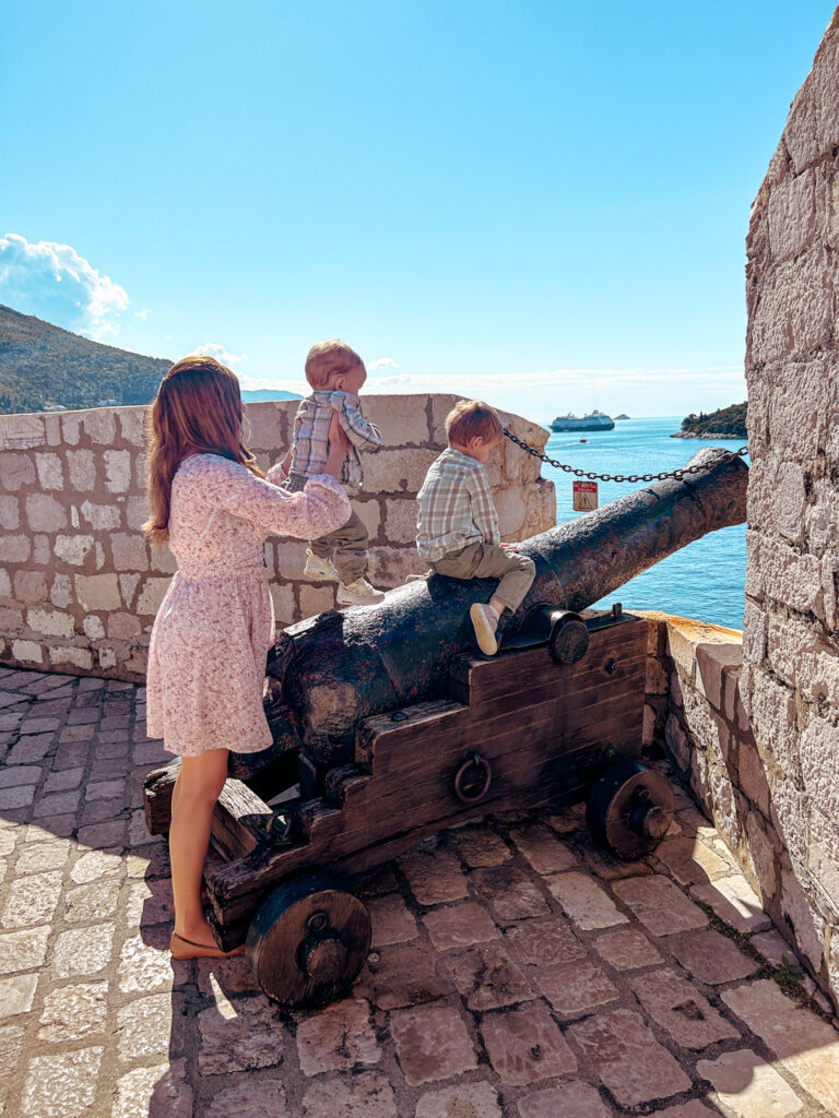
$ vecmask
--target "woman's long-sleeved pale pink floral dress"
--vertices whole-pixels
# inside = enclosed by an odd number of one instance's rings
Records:
[[[196,454],[172,480],[169,544],[178,571],[149,647],[148,732],[169,752],[252,754],[271,745],[262,705],[274,605],[263,563],[271,532],[315,539],[350,515],[341,485],[312,477],[301,493],[216,454]]]

